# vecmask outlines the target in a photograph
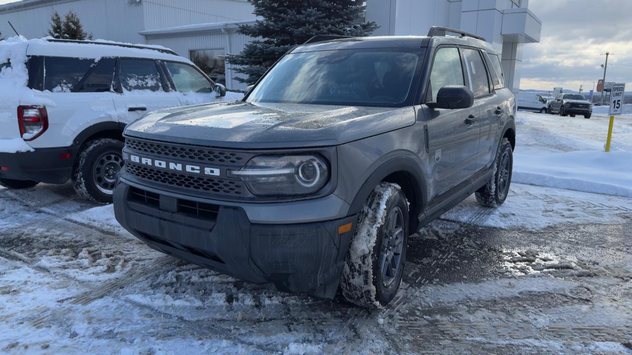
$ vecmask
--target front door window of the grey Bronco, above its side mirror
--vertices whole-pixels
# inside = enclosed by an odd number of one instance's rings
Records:
[[[453,47],[439,48],[435,54],[428,85],[432,102],[437,102],[437,92],[446,85],[465,85],[459,50]]]

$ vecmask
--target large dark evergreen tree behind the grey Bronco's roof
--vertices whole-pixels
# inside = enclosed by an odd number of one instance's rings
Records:
[[[236,78],[252,84],[285,52],[315,35],[363,37],[378,26],[361,22],[365,6],[360,0],[248,0],[255,15],[264,18],[254,25],[243,25],[237,32],[257,38],[246,44],[240,54],[228,54],[235,71],[246,75]]]

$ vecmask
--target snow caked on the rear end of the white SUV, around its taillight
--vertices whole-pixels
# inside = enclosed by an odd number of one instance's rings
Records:
[[[17,36],[0,41],[0,65],[10,65],[0,71],[0,152],[33,150],[20,138],[17,117],[19,105],[53,105],[51,100],[38,97],[37,91],[27,87],[27,46],[36,41],[42,40],[27,40]]]

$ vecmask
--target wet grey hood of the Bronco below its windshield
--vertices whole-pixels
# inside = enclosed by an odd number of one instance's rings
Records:
[[[125,134],[207,147],[300,148],[339,145],[414,123],[412,107],[233,101],[150,112]]]

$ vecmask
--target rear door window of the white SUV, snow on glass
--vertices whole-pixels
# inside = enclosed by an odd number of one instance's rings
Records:
[[[150,59],[121,59],[119,79],[126,91],[162,90],[162,81],[155,61]]]

